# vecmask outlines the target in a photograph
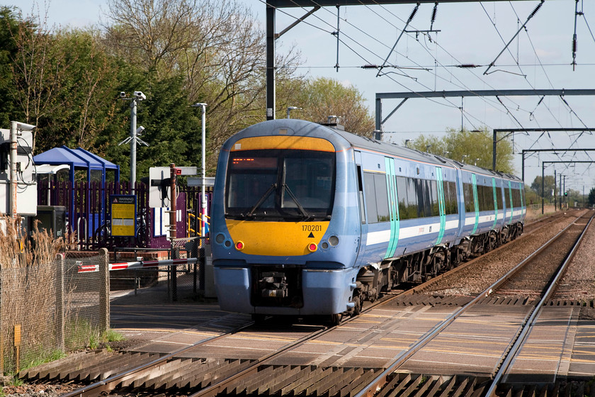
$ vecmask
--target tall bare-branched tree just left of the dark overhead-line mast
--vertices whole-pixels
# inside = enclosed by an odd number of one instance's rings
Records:
[[[208,104],[208,164],[240,128],[264,117],[266,44],[249,7],[236,0],[108,0],[106,46],[159,78],[181,74],[188,104]],[[279,57],[290,77],[298,55]]]

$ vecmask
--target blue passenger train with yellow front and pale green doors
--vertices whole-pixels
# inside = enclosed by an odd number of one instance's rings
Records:
[[[358,314],[523,232],[521,179],[296,119],[222,147],[211,211],[225,311]]]

